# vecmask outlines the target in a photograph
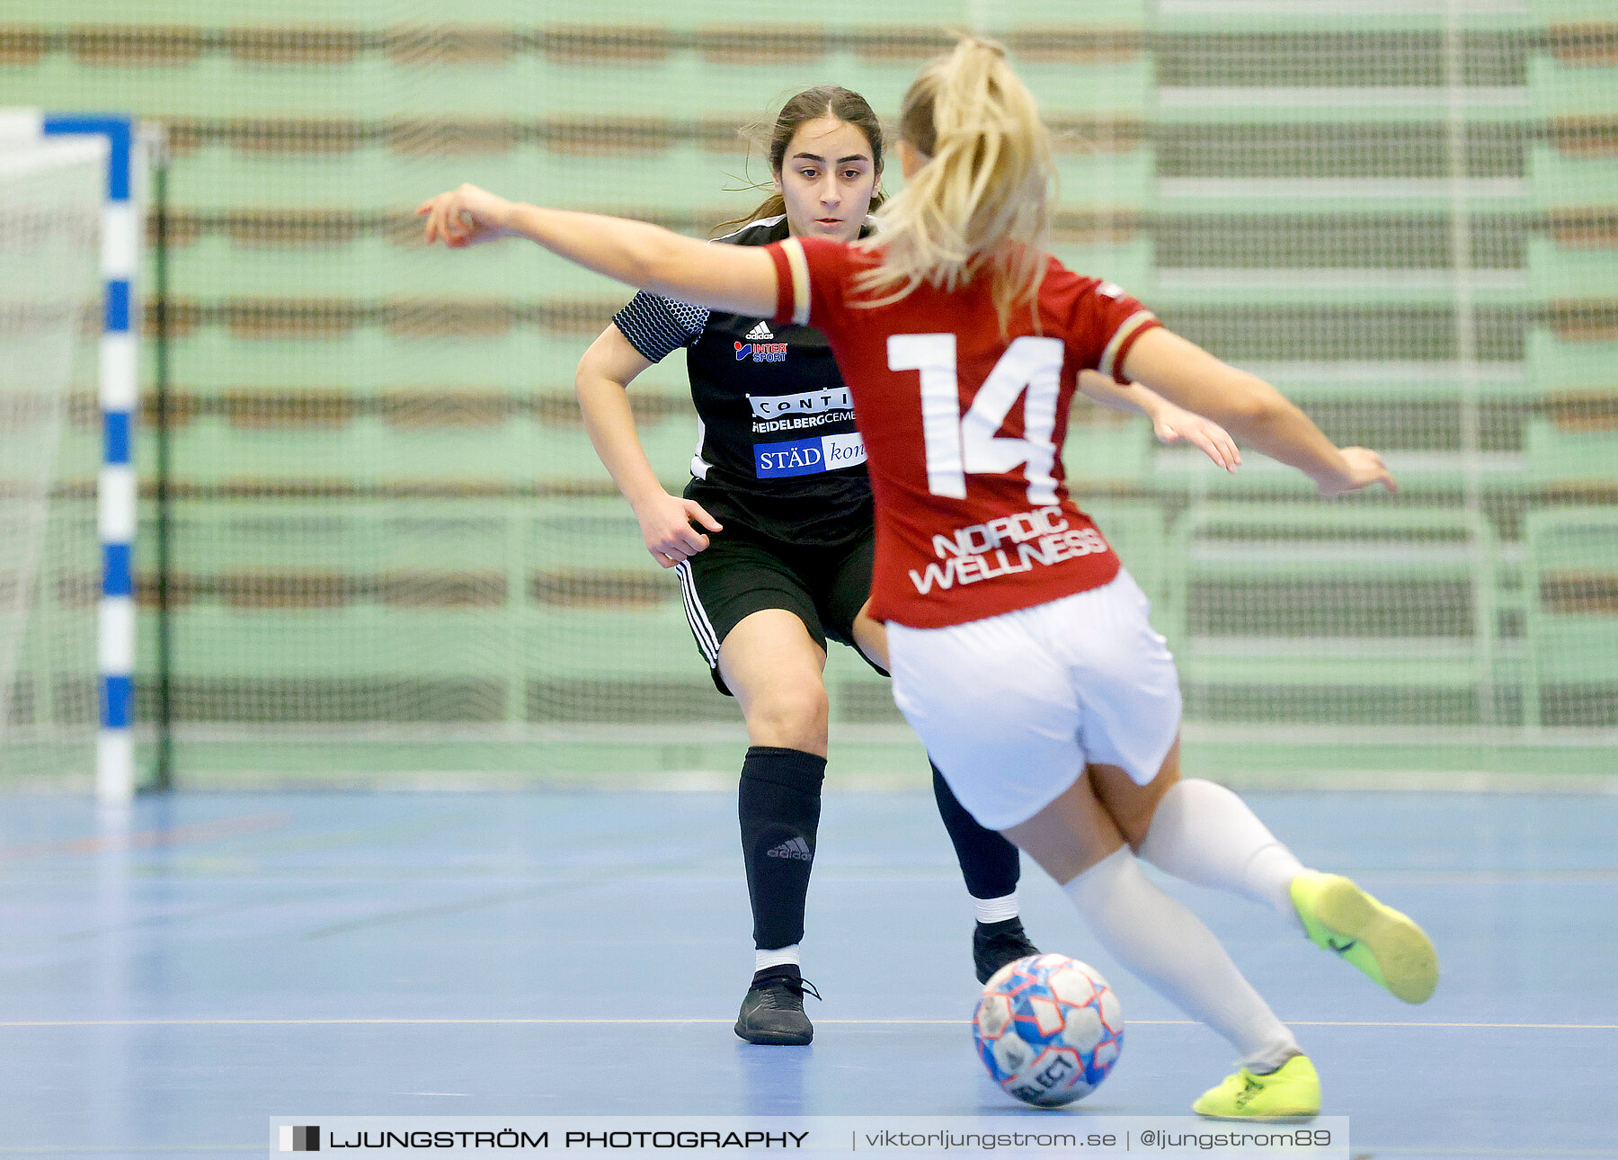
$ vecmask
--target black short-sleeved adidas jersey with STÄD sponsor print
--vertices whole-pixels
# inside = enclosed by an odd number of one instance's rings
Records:
[[[718,241],[765,246],[786,236],[780,215]],[[652,362],[686,348],[697,408],[686,498],[726,531],[739,524],[788,544],[832,547],[870,529],[866,445],[825,335],[644,291],[613,324]]]

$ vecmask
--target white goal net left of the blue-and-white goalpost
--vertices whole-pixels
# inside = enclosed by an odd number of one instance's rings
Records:
[[[0,788],[94,773],[99,142],[0,142]]]

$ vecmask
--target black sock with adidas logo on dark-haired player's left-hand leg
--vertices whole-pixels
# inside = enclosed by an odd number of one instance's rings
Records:
[[[759,950],[803,942],[824,780],[825,757],[801,749],[751,746],[741,764],[736,815]]]

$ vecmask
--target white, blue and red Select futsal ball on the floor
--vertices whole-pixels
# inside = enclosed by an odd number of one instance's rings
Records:
[[[984,985],[972,1040],[1000,1087],[1055,1108],[1107,1079],[1123,1050],[1123,1008],[1095,967],[1066,955],[1029,955]]]

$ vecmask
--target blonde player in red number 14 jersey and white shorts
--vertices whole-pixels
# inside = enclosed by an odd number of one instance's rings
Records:
[[[1066,493],[1061,434],[1092,369],[1215,419],[1322,495],[1393,479],[1375,451],[1335,447],[1269,383],[1050,257],[1048,136],[998,45],[968,37],[924,68],[900,136],[909,184],[853,244],[705,246],[474,186],[419,212],[429,241],[526,236],[642,290],[827,335],[866,438],[870,613],[888,628],[900,709],[961,804],[1061,883],[1118,961],[1241,1053],[1196,1111],[1315,1115],[1319,1077],[1291,1031],[1137,859],[1273,908],[1411,1003],[1432,995],[1437,955],[1406,916],[1301,866],[1233,793],[1180,777],[1173,658]]]

